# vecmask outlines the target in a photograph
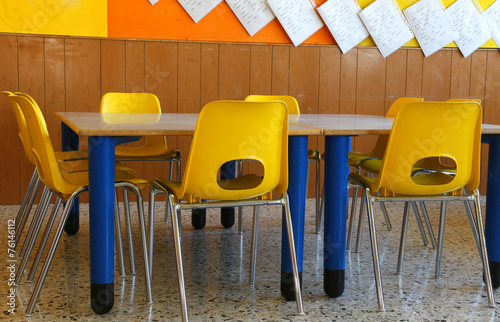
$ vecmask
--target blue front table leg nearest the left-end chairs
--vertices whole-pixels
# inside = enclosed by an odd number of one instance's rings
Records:
[[[91,306],[104,314],[114,304],[114,182],[112,137],[89,137]]]

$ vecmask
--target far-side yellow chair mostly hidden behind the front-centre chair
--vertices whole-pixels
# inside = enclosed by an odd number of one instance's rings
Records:
[[[287,107],[288,107],[288,113],[289,114],[295,114],[299,115],[300,114],[300,109],[299,109],[299,103],[293,96],[289,95],[249,95],[245,97],[245,101],[251,101],[251,102],[267,102],[267,101],[282,101],[284,102]],[[320,159],[321,159],[321,154],[317,150],[308,150],[307,151],[307,180],[306,182],[309,182],[309,168],[311,167],[311,162],[316,163],[316,232],[319,233],[320,231],[320,207],[321,207],[321,196],[320,196],[320,178],[321,178],[321,173],[320,173]],[[241,165],[240,165],[240,171],[242,170]],[[241,175],[241,174],[240,174]],[[307,195],[307,189],[306,189],[306,195]],[[240,209],[241,210],[241,209]],[[241,211],[240,211],[241,213]],[[241,215],[239,217],[240,223],[241,223]],[[240,224],[240,232],[241,232],[241,224]]]

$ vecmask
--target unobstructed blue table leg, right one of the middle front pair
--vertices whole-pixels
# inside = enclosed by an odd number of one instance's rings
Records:
[[[348,136],[325,137],[324,290],[338,297],[345,288]]]

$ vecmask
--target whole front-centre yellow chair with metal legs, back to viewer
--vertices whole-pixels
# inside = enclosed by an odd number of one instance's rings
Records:
[[[255,143],[257,142],[257,143]],[[213,153],[217,151],[217,153]],[[218,180],[220,167],[229,161],[255,160],[264,168],[264,176],[245,174]],[[201,111],[184,171],[183,181],[155,180],[150,190],[149,260],[152,261],[154,202],[157,193],[168,194],[172,218],[177,273],[183,319],[188,319],[187,301],[177,215],[181,209],[234,206],[280,205],[285,207],[288,244],[293,268],[295,298],[303,314],[302,295],[295,255],[288,196],[288,110],[283,102],[215,101]],[[272,198],[272,192],[281,194]],[[179,200],[185,200],[181,202]],[[201,202],[202,199],[208,201]],[[152,211],[151,211],[152,210]],[[279,213],[281,216],[281,212]],[[258,207],[254,208],[252,264],[253,284],[257,252]],[[150,262],[150,266],[152,262]]]

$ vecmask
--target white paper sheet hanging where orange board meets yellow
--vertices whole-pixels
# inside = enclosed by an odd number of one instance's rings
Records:
[[[344,54],[370,35],[359,18],[360,11],[356,0],[328,0],[318,8],[318,13]]]

